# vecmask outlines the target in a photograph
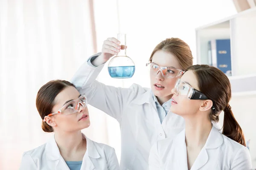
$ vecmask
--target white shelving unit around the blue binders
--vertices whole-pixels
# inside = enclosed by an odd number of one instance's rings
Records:
[[[209,64],[212,39],[230,39],[233,95],[256,95],[256,8],[196,28],[198,64]]]

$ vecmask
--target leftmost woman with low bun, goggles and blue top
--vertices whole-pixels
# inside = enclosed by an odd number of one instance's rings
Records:
[[[42,129],[54,132],[49,142],[23,154],[20,170],[119,170],[115,150],[87,138],[90,126],[85,95],[64,80],[40,88],[36,107]]]

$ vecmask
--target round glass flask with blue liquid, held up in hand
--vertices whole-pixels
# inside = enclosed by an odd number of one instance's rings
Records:
[[[120,52],[108,63],[108,73],[112,78],[131,78],[135,72],[134,62],[126,55],[126,34],[117,34],[120,41]]]

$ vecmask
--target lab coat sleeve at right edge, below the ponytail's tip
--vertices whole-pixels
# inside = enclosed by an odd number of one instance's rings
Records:
[[[252,161],[247,147],[241,147],[233,159],[230,170],[251,170]]]

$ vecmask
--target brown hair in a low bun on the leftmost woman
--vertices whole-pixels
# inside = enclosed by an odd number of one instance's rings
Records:
[[[53,132],[53,128],[47,122],[44,122],[44,116],[52,113],[52,108],[55,105],[55,97],[68,86],[75,87],[75,85],[65,80],[52,80],[39,89],[35,103],[43,119],[41,126],[45,132]]]

